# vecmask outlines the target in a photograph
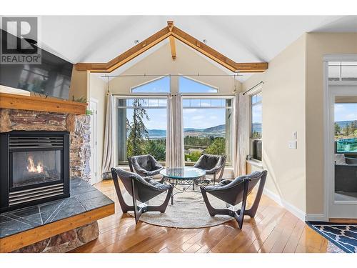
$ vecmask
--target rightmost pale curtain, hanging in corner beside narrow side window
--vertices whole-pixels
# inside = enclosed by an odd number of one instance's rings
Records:
[[[249,96],[240,93],[236,96],[234,118],[234,176],[246,174],[246,156],[249,154]]]

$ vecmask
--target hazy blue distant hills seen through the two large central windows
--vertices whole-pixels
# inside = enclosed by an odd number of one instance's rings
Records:
[[[148,129],[150,138],[166,137],[166,130],[164,129]],[[226,134],[226,125],[221,124],[218,126],[211,126],[207,129],[195,129],[187,128],[183,129],[184,136],[196,136],[196,137],[224,137]]]

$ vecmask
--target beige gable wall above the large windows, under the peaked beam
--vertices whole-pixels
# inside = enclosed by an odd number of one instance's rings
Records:
[[[227,74],[208,58],[199,55],[180,41],[176,41],[176,55],[176,60],[173,60],[170,44],[164,44],[122,74]],[[192,76],[191,78],[218,87],[220,94],[232,94],[234,90],[234,80],[231,76]],[[109,89],[114,94],[129,94],[132,87],[153,79],[156,77],[116,77],[109,81]],[[236,81],[236,89],[238,91],[241,89],[239,81]],[[177,91],[178,77],[171,76],[171,92]]]

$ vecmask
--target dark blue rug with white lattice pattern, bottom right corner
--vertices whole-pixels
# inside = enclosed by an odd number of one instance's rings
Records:
[[[344,252],[357,253],[357,224],[329,222],[307,222],[307,224]]]

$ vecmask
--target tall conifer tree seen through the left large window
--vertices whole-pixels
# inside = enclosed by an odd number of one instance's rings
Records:
[[[128,157],[143,154],[145,139],[149,139],[149,132],[144,124],[144,118],[149,120],[146,110],[141,108],[141,99],[134,99],[133,122],[126,119],[126,129],[129,131],[126,154]]]

